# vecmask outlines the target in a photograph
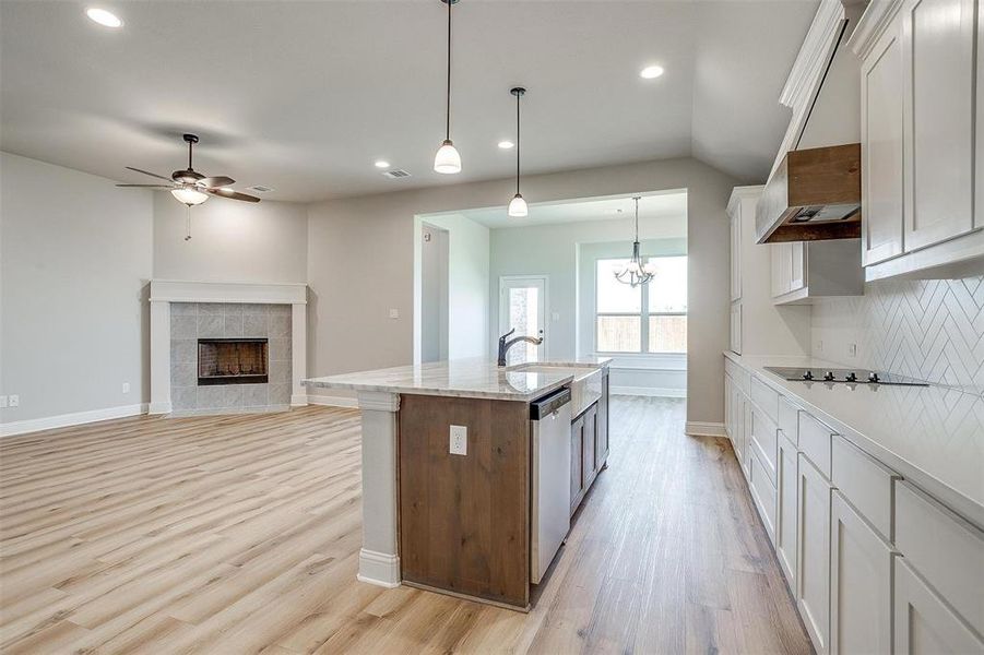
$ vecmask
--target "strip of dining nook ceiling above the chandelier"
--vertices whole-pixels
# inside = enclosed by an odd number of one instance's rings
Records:
[[[455,212],[490,229],[501,227],[527,227],[555,223],[580,223],[584,221],[621,221],[635,216],[636,205],[631,196],[571,200],[545,204],[531,204],[530,215],[513,218],[506,214],[506,207],[487,207]],[[425,216],[426,219],[426,216]],[[675,191],[643,195],[639,199],[639,221],[669,221],[687,225],[687,192]]]

